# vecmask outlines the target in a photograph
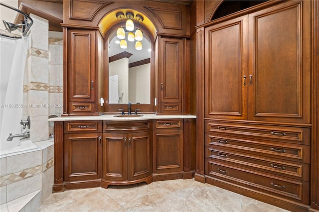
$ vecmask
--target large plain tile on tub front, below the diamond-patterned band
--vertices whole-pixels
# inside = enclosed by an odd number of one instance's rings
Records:
[[[37,190],[40,190],[42,187],[42,175],[38,174],[34,177],[27,178],[16,183],[7,185],[7,190],[10,191],[7,193],[6,200],[7,202],[15,200],[24,195],[30,194]]]

